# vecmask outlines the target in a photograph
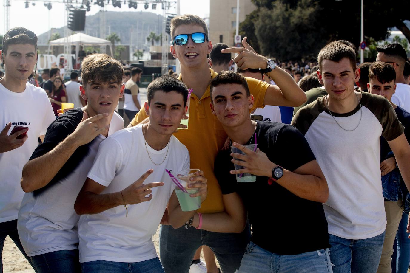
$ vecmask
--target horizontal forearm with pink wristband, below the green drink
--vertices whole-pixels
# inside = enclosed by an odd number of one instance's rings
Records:
[[[194,214],[194,221],[192,226],[199,226],[199,216]],[[246,226],[246,215],[244,219],[235,219],[231,217],[227,212],[217,212],[212,214],[202,214],[202,226],[201,229],[212,232],[223,233],[241,233]]]

